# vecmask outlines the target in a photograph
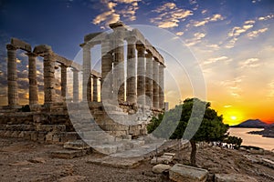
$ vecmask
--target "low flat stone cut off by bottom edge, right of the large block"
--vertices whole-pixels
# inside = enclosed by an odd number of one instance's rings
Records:
[[[257,182],[257,179],[254,177],[248,177],[246,175],[240,174],[216,174],[216,182]]]

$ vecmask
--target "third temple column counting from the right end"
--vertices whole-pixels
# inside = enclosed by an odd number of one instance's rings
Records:
[[[153,106],[153,55],[148,52],[145,55],[146,60],[146,69],[145,69],[145,95],[151,99],[151,102],[146,104],[149,106]]]

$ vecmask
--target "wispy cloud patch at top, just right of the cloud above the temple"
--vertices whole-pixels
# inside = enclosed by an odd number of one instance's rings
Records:
[[[151,18],[151,23],[156,24],[160,28],[178,26],[180,21],[184,21],[187,16],[193,15],[192,11],[179,8],[174,3],[165,3],[157,7],[153,12],[159,15]]]

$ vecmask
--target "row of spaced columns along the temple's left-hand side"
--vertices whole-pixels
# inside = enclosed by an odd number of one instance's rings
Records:
[[[8,106],[16,108],[18,106],[18,86],[17,86],[17,69],[16,69],[16,46],[8,44],[7,49],[7,97]],[[38,86],[37,86],[37,54],[28,52],[28,99],[29,105],[37,105],[38,103]],[[89,55],[87,55],[89,56]],[[56,89],[55,89],[55,57],[52,52],[44,55],[44,103],[52,104],[56,102]],[[61,64],[61,96],[66,97],[67,93],[67,68]],[[88,66],[84,66],[88,67]],[[79,70],[72,67],[73,72],[73,102],[79,102]],[[89,73],[84,69],[83,73]],[[98,102],[98,77],[93,76],[93,97],[92,100]],[[90,83],[91,86],[91,83]],[[91,91],[91,88],[90,88]],[[91,95],[91,93],[90,93]],[[84,95],[83,95],[84,96]],[[87,95],[86,95],[87,96]],[[91,98],[91,97],[90,97]]]

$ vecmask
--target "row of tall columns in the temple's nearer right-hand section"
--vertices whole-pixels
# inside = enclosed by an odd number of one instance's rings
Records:
[[[104,89],[108,90],[104,90],[106,94],[103,96],[103,99],[111,99],[113,96],[117,96],[119,103],[127,101],[131,104],[138,103],[141,106],[163,109],[163,64],[152,53],[146,51],[144,45],[138,44],[135,37],[128,37],[126,39],[128,45],[125,88],[123,38],[119,34],[115,34],[115,41],[112,41],[110,36],[107,35],[106,39],[101,42],[101,86],[107,77],[109,79],[109,86],[104,87]],[[114,48],[112,48],[111,44],[114,45]],[[88,80],[91,67],[90,49],[92,46],[88,43],[82,45],[84,67],[83,98],[88,100],[87,92],[90,93],[90,81]],[[146,100],[147,97],[150,98],[151,102]]]

